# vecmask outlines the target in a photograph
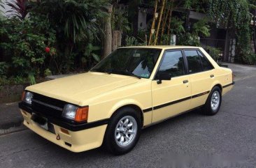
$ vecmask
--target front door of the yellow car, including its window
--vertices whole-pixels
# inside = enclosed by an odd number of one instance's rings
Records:
[[[171,80],[159,84],[159,73],[169,73]],[[190,107],[191,83],[185,72],[184,57],[181,50],[165,52],[162,63],[152,81],[152,122],[175,116]]]

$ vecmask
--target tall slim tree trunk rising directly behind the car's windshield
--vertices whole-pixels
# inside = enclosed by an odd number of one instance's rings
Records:
[[[105,34],[104,34],[104,52],[103,58],[111,54],[112,52],[112,30],[111,30],[111,13],[113,5],[108,6],[108,17],[105,23]]]

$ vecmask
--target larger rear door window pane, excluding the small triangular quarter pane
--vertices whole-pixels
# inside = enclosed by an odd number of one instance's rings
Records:
[[[190,74],[202,71],[201,59],[196,50],[185,51],[185,56],[187,58],[188,72]]]

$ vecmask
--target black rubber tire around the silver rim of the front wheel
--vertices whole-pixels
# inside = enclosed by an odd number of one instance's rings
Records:
[[[136,134],[134,134],[134,137],[132,138],[132,141],[130,142],[130,144],[128,144],[127,146],[120,146],[120,144],[118,144],[118,142],[115,140],[115,136],[116,136],[115,130],[117,125],[119,125],[118,123],[120,122],[120,120],[128,116],[131,116],[131,118],[135,119],[136,121],[136,125],[137,125]],[[139,112],[136,112],[136,110],[131,107],[124,107],[122,109],[119,109],[111,117],[111,121],[108,123],[108,127],[106,128],[106,133],[104,137],[104,146],[106,147],[107,151],[115,155],[122,155],[131,151],[131,149],[134,148],[134,146],[136,146],[138,139],[141,135],[141,127],[142,127],[141,115]]]

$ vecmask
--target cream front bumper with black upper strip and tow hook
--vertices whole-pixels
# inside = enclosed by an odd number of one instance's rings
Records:
[[[73,152],[82,152],[87,151],[92,148],[97,148],[101,146],[104,134],[106,131],[107,123],[99,123],[97,124],[90,124],[90,123],[83,123],[83,125],[87,125],[86,127],[77,124],[68,124],[69,129],[67,128],[67,123],[60,122],[62,126],[57,125],[56,122],[52,122],[52,119],[48,119],[49,123],[52,123],[54,132],[50,132],[41,128],[38,123],[31,119],[32,112],[28,112],[24,107],[22,107],[22,102],[19,104],[20,111],[24,118],[24,125],[27,126],[30,130],[33,130],[41,137],[48,139],[50,142],[53,142],[63,148],[68,149],[69,151]],[[85,128],[84,128],[85,127]],[[62,132],[62,128],[68,130],[68,132]],[[79,128],[79,129],[78,129]]]

